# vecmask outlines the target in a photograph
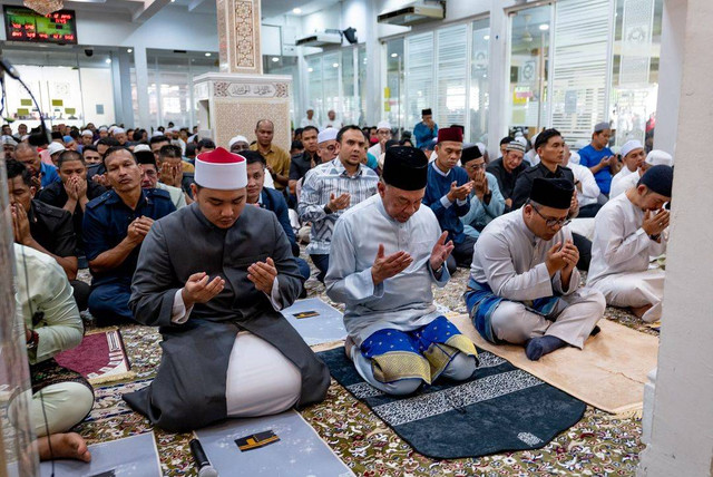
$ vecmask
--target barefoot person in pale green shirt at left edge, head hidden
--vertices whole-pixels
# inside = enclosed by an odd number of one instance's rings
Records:
[[[84,325],[72,289],[61,266],[49,255],[14,244],[16,313],[30,361],[30,424],[39,437],[40,459],[90,460],[87,444],[71,428],[94,406],[91,384],[78,372],[60,367],[55,356],[81,342]],[[4,358],[4,357],[3,357]],[[10,416],[16,407],[10,403]]]

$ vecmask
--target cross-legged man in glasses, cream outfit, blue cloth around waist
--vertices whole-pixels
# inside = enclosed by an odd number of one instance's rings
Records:
[[[473,252],[463,299],[476,329],[492,343],[525,345],[534,361],[582,349],[606,306],[600,292],[579,286],[566,227],[574,191],[566,178],[535,178],[525,206],[490,222]]]

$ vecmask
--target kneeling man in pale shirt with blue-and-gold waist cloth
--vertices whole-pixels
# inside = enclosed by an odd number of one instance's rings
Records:
[[[450,279],[453,244],[421,207],[427,178],[423,152],[387,149],[379,195],[345,212],[332,236],[326,294],[346,305],[346,353],[367,382],[390,395],[440,376],[468,379],[477,364],[472,342],[433,304],[431,283]]]

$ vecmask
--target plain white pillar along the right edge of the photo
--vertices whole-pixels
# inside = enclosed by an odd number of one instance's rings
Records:
[[[677,116],[676,173],[651,444],[638,475],[699,477],[713,470],[713,167],[701,136],[713,121],[713,2],[666,3],[685,9],[677,11],[685,22],[674,26],[684,41],[678,109],[658,108],[660,115]],[[662,57],[661,77],[672,72],[665,64]]]

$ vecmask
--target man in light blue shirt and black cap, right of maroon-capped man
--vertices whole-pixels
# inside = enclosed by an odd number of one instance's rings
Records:
[[[460,221],[466,235],[478,240],[485,226],[505,212],[505,197],[500,194],[498,179],[486,172],[486,159],[478,146],[466,147],[460,164],[472,181],[470,211]]]

